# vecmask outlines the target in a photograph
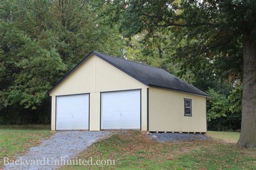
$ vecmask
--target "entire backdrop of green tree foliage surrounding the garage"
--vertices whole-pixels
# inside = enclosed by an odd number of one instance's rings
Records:
[[[0,124],[49,123],[45,92],[99,51],[161,67],[207,91],[208,127],[239,129],[242,32],[254,29],[255,6],[229,0],[0,2]]]

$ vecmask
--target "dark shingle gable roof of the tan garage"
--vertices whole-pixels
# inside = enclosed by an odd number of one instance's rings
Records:
[[[130,60],[105,55],[103,53],[99,53],[95,51],[91,52],[90,55],[87,56],[84,60],[86,60],[93,54],[98,56],[99,58],[102,58],[107,63],[110,63],[111,65],[117,67],[123,72],[129,74],[131,77],[137,79],[138,81],[142,82],[147,86],[161,87],[165,89],[183,91],[183,92],[194,93],[194,94],[199,94],[199,95],[209,97],[209,95],[206,94],[205,92],[197,89],[196,87],[186,83],[185,81],[173,76],[171,73],[163,69],[160,69],[158,67],[153,67],[153,66],[149,66],[141,63],[132,62]],[[69,76],[69,74],[73,70],[75,70],[80,64],[82,64],[84,60],[82,60],[82,62],[80,62],[68,74],[66,74],[65,77]],[[55,86],[53,86],[47,92],[47,94],[49,94],[62,80],[60,80]]]

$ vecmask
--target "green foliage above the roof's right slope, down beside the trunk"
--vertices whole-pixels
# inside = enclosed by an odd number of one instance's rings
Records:
[[[208,125],[231,129],[240,128],[242,36],[256,39],[255,11],[255,1],[228,0],[114,1],[110,7],[128,40],[126,52],[210,88]]]

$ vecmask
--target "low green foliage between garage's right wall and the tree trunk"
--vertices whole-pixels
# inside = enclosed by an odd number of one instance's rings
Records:
[[[210,89],[207,101],[207,120],[210,130],[238,130],[241,126],[242,86],[235,86],[229,93]]]

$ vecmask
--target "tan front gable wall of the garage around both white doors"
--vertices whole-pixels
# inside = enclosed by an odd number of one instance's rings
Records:
[[[98,131],[100,92],[142,89],[142,129],[146,130],[146,88],[146,85],[103,59],[91,56],[50,92],[50,96],[53,99],[55,96],[66,94],[90,93],[90,130]],[[52,111],[52,119],[55,120],[55,110]],[[55,121],[52,121],[52,130],[55,130]]]

